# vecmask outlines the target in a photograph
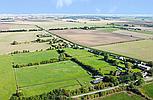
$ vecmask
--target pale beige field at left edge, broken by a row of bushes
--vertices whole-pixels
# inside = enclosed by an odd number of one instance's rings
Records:
[[[44,32],[7,32],[0,33],[0,54],[8,54],[13,51],[22,50],[40,50],[47,49],[50,46],[46,43],[31,43],[30,41],[36,40],[37,34],[43,34]],[[13,41],[17,42],[29,42],[26,44],[11,45]]]

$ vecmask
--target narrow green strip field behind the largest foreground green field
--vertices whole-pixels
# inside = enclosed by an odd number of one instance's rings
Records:
[[[58,59],[58,53],[56,50],[30,52],[12,55],[12,61],[14,64],[28,64],[41,62],[50,59]]]

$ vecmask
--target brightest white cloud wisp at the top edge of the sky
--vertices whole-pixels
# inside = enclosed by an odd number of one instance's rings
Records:
[[[57,0],[56,8],[63,8],[72,5],[72,0]]]

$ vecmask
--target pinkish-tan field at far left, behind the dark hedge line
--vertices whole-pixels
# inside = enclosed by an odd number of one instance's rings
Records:
[[[37,29],[34,25],[29,24],[17,24],[17,23],[0,23],[0,30],[22,30],[22,29]]]

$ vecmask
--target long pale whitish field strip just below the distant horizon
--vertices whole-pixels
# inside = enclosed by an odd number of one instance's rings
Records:
[[[14,22],[16,24],[23,23],[28,25],[39,25],[45,29],[51,28],[74,28],[74,27],[84,27],[84,26],[103,26],[108,23],[113,22],[124,22],[115,20],[101,20],[101,21],[90,21],[90,20],[77,20],[77,22],[67,22],[67,20],[47,20],[47,21],[21,21]]]

